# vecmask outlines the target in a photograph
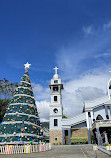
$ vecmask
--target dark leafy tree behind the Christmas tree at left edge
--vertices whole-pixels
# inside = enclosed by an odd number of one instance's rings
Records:
[[[0,122],[6,111],[6,106],[14,94],[15,88],[18,83],[10,83],[7,79],[0,79]]]

